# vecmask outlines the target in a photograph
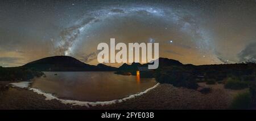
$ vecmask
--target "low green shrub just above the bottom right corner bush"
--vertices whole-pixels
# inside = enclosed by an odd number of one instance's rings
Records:
[[[224,80],[224,87],[226,89],[245,89],[248,88],[248,83],[245,81],[240,81],[237,78],[231,78],[229,77],[228,79]]]

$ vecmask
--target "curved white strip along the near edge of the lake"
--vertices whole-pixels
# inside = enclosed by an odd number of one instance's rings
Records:
[[[13,85],[13,87],[28,88],[28,84],[30,84],[30,83],[31,83],[30,81],[23,81],[23,82],[20,82],[20,83],[10,83],[10,84]],[[71,104],[71,105],[74,105],[74,106],[75,105],[79,105],[79,106],[90,107],[90,106],[97,106],[97,105],[101,105],[101,106],[111,105],[111,104],[114,104],[114,103],[123,102],[123,101],[129,100],[131,98],[134,98],[134,97],[137,97],[137,96],[141,96],[142,94],[147,93],[151,89],[154,89],[154,88],[158,87],[158,85],[159,85],[159,83],[154,85],[154,87],[151,87],[151,88],[148,88],[148,89],[144,90],[143,92],[139,92],[137,94],[132,94],[132,95],[130,95],[128,97],[125,97],[125,98],[122,98],[122,99],[119,99],[119,100],[102,101],[102,102],[87,102],[87,101],[76,101],[76,100],[63,100],[63,99],[60,99],[60,98],[57,98],[57,97],[53,96],[51,93],[44,93],[44,92],[42,92],[42,90],[39,90],[39,89],[35,89],[35,88],[28,88],[28,89],[32,90],[35,93],[43,94],[43,96],[46,97],[45,100],[58,100],[61,103],[64,103],[66,105],[67,104]]]

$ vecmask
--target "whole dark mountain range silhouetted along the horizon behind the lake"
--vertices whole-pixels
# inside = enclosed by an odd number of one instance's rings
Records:
[[[146,67],[147,64],[132,63],[122,64],[119,68],[98,64],[97,66],[86,64],[80,60],[68,56],[47,57],[27,63],[22,67],[33,68],[36,71],[136,71],[138,67]],[[159,58],[159,67],[182,66],[174,59]]]

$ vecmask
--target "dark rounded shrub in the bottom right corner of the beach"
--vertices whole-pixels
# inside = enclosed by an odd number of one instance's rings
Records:
[[[251,95],[249,92],[239,93],[230,105],[230,109],[249,109],[251,106]]]

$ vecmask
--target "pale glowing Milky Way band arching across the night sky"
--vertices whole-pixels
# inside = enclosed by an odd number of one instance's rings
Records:
[[[93,27],[94,23],[104,22],[104,19],[113,16],[123,17],[130,14],[151,15],[163,18],[164,21],[171,24],[179,25],[180,31],[192,36],[192,40],[200,51],[205,49],[214,50],[209,33],[200,28],[199,19],[192,12],[185,10],[174,10],[170,7],[150,7],[150,6],[125,6],[125,7],[102,7],[99,10],[86,12],[71,27],[65,28],[60,32],[60,38],[56,41],[56,53],[61,55],[70,55],[73,52],[75,43],[81,39],[82,34],[88,33],[88,29]],[[146,16],[145,16],[146,17]],[[146,21],[145,21],[146,22]],[[107,38],[106,38],[107,39]],[[109,39],[109,38],[108,38]],[[210,46],[211,45],[211,46]]]

